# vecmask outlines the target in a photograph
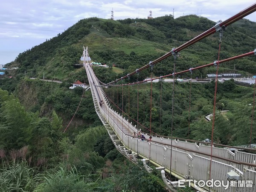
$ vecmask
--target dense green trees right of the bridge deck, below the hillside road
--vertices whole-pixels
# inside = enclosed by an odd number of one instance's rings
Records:
[[[208,122],[204,116],[213,111],[215,82],[192,83],[191,86],[190,94],[190,83],[176,82],[175,84],[173,135],[200,141],[211,139],[212,122]],[[151,119],[151,131],[170,136],[172,127],[171,90],[172,84],[170,83],[153,83],[151,102],[151,84],[140,84],[138,108],[137,86],[124,87],[123,90],[121,87],[108,88],[105,89],[105,93],[118,105],[118,108],[113,105],[117,111],[122,113],[120,109],[123,108],[129,114],[129,116],[126,115],[127,118],[137,119],[137,113],[139,113],[139,122],[146,128],[149,129]],[[189,99],[191,100],[190,110]],[[218,83],[214,142],[226,145],[250,143],[252,107],[253,88],[237,86],[233,79]],[[223,109],[228,112],[221,112]],[[189,125],[190,129],[188,129]],[[252,143],[256,142],[255,125],[254,122]],[[144,126],[139,125],[139,128],[148,132]]]

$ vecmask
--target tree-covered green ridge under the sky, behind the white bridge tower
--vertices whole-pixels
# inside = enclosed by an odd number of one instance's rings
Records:
[[[15,62],[20,64],[20,73],[26,70],[30,76],[68,79],[70,70],[74,70],[73,65],[79,62],[82,46],[89,46],[93,60],[110,65],[115,63],[128,69],[135,64],[147,64],[149,59],[152,61],[162,56],[172,47],[178,47],[214,25],[213,21],[196,15],[176,19],[166,15],[150,20],[128,18],[118,21],[93,17],[79,20],[56,37],[20,53]],[[255,26],[254,22],[246,19],[228,26],[221,45],[221,59],[255,49]],[[215,61],[218,41],[218,33],[215,33],[182,51],[178,70]],[[254,57],[240,59],[236,62],[236,69],[255,73],[255,61]],[[164,68],[166,64],[168,61],[159,65]],[[169,68],[168,73],[172,71],[172,67]],[[232,69],[233,63],[230,62],[227,72]],[[206,71],[201,70],[201,73],[205,75]],[[155,75],[166,74],[155,72]]]

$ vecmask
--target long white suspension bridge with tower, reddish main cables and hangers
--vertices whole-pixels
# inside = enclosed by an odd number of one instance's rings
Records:
[[[215,119],[215,104],[216,104],[216,90],[218,81],[218,66],[219,64],[227,61],[231,61],[238,58],[247,57],[250,55],[256,55],[256,49],[251,52],[237,55],[232,58],[224,60],[214,61],[210,64],[202,65],[188,70],[176,72],[175,61],[178,53],[189,47],[192,44],[200,41],[203,38],[215,33],[220,32],[219,50],[221,48],[221,38],[226,30],[226,27],[236,22],[237,20],[249,15],[256,11],[256,3],[252,6],[244,9],[238,14],[230,17],[225,21],[219,21],[211,29],[198,35],[192,40],[186,42],[180,47],[173,48],[172,51],[166,53],[160,58],[154,61],[150,61],[140,69],[135,70],[133,73],[116,79],[108,84],[103,84],[93,72],[93,68],[90,65],[90,57],[88,55],[88,49],[84,48],[83,59],[84,67],[87,73],[88,81],[90,84],[90,90],[93,96],[93,102],[102,124],[108,131],[109,137],[113,141],[115,147],[120,153],[125,155],[129,160],[134,163],[138,163],[139,160],[143,161],[143,165],[148,172],[152,172],[154,169],[160,170],[164,183],[170,190],[175,190],[176,186],[190,185],[197,191],[216,191],[216,192],[256,192],[256,149],[247,149],[250,152],[242,152],[239,147],[219,145],[213,143],[213,129]],[[215,66],[216,67],[216,80],[215,80],[215,97],[213,105],[213,119],[212,119],[212,140],[211,143],[198,142],[194,140],[185,140],[174,137],[166,137],[155,134],[153,131],[143,132],[145,139],[141,139],[138,136],[141,130],[136,128],[132,122],[129,122],[129,118],[125,118],[123,113],[118,113],[111,105],[111,101],[103,90],[103,87],[109,86],[124,86],[124,84],[116,84],[118,81],[122,81],[125,78],[129,78],[132,75],[139,73],[148,67],[153,68],[155,64],[163,59],[173,56],[174,57],[174,73],[167,76],[160,76],[157,78],[151,78],[144,81],[137,81],[136,83],[125,84],[130,86],[134,84],[140,84],[145,81],[151,82],[151,95],[152,95],[152,82],[155,79],[162,80],[164,77],[172,76],[175,79],[175,75],[192,72],[203,67]],[[175,91],[175,83],[173,83],[173,96]],[[173,97],[174,98],[174,97]],[[255,90],[254,90],[255,98]],[[190,101],[189,101],[190,105]],[[254,111],[254,102],[253,102]],[[173,111],[172,106],[172,114]],[[150,114],[151,115],[151,114]],[[253,117],[253,116],[252,116]],[[173,119],[172,119],[173,120]],[[150,120],[151,121],[151,120]],[[150,122],[151,123],[151,122]],[[137,122],[137,125],[139,122]],[[252,124],[253,125],[253,124]],[[138,127],[138,126],[137,126]],[[251,127],[252,130],[252,127]],[[133,133],[137,133],[136,136]],[[236,150],[232,150],[236,148]],[[168,175],[176,177],[180,181],[170,179]],[[209,181],[212,180],[212,183]],[[197,183],[197,181],[200,181]],[[222,181],[223,183],[214,183],[215,181]],[[207,184],[208,182],[208,184]],[[214,183],[214,184],[213,184]]]

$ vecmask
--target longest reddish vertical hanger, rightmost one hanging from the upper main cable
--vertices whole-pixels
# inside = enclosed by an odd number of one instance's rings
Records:
[[[218,61],[216,62],[216,78],[215,78],[215,90],[214,90],[214,102],[213,102],[213,116],[212,116],[212,141],[211,141],[211,157],[210,157],[210,168],[209,168],[209,180],[211,180],[211,171],[212,171],[212,148],[213,148],[213,131],[214,131],[214,123],[215,123],[215,108],[216,108],[216,97],[217,97],[217,85],[218,85],[218,67],[220,60],[220,52],[221,52],[221,38],[224,31],[220,32],[220,41],[219,41],[219,49],[218,49]]]

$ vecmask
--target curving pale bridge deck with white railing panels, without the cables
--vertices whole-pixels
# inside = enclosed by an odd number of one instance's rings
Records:
[[[244,183],[244,187],[228,186],[228,189],[225,189],[224,186],[212,186],[210,190],[231,192],[238,189],[239,192],[256,192],[256,154],[240,151],[233,153],[228,149],[212,147],[211,161],[211,146],[156,136],[152,138],[151,142],[131,137],[132,133],[137,133],[138,130],[127,119],[122,118],[120,114],[110,108],[107,97],[102,87],[99,86],[99,81],[92,68],[88,64],[84,64],[84,67],[90,83],[96,112],[108,130],[116,148],[130,160],[137,160],[134,154],[141,155],[148,158],[151,163],[162,167],[161,169],[164,168],[167,172],[172,169],[172,174],[180,179],[207,181],[211,178],[214,181],[220,180],[227,183],[228,176],[233,175],[229,179]],[[102,106],[99,105],[100,101],[103,101]],[[148,134],[144,134],[144,136],[149,139]],[[211,175],[209,175],[210,165]],[[233,171],[232,174],[231,171]],[[252,187],[245,186],[245,181],[248,180],[252,181]],[[203,191],[203,189],[200,190]]]

